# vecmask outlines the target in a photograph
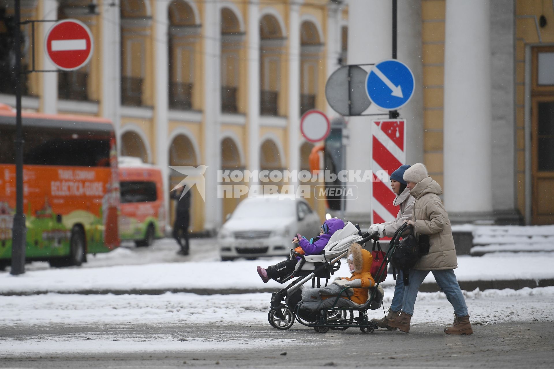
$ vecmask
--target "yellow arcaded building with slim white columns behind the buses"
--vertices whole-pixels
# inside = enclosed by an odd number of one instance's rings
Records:
[[[78,71],[31,73],[23,108],[112,119],[121,155],[158,165],[166,188],[183,176],[169,166],[222,170],[307,169],[314,144],[301,114],[327,111],[325,81],[345,45],[344,4],[202,0],[24,0],[22,20],[75,18],[95,47]],[[4,17],[13,3],[3,4]],[[53,23],[35,24],[36,69],[53,69],[42,41]],[[28,41],[29,24],[23,26]],[[8,33],[7,29],[3,30]],[[29,46],[30,47],[30,46]],[[32,69],[32,52],[23,64]],[[0,101],[13,105],[9,86]],[[302,159],[302,158],[303,159]],[[212,173],[212,172],[210,172]],[[207,173],[207,181],[215,177]],[[193,232],[216,229],[240,199],[193,189]],[[320,215],[324,204],[309,199]],[[173,204],[170,204],[173,206]],[[172,214],[170,210],[170,215]]]

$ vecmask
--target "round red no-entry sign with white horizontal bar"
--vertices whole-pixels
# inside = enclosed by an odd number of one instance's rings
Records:
[[[79,20],[60,20],[48,30],[44,48],[48,59],[59,69],[79,69],[93,55],[93,34]]]

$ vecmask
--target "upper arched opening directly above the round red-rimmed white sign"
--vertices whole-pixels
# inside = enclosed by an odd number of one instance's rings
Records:
[[[300,115],[316,107],[321,39],[313,22],[300,26]]]

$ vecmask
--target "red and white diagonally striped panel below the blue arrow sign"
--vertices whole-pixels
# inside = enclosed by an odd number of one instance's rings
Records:
[[[371,196],[372,223],[394,220],[398,206],[392,202],[389,176],[402,164],[406,164],[406,119],[375,120],[371,123],[373,186]],[[387,175],[383,175],[383,171]],[[379,175],[381,174],[381,175]]]

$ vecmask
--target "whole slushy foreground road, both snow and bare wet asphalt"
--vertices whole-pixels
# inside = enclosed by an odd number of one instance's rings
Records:
[[[387,306],[391,289],[386,296]],[[469,337],[442,333],[452,307],[440,293],[419,294],[408,335],[353,328],[322,335],[297,322],[275,330],[267,322],[269,299],[269,293],[0,297],[0,367],[355,367],[362,357],[344,363],[341,357],[360,350],[386,361],[384,367],[428,367],[439,360],[428,351],[438,349],[457,366],[551,365],[545,358],[552,357],[554,287],[466,293],[475,331]]]

